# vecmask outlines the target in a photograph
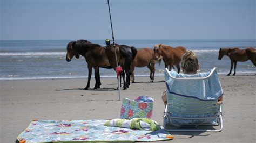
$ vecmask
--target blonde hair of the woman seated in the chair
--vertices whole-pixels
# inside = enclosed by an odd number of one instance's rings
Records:
[[[199,63],[197,56],[192,51],[186,51],[186,53],[181,58],[181,67],[186,70],[186,73],[197,73],[197,70],[199,69]]]

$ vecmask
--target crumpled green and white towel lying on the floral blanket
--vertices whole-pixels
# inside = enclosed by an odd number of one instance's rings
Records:
[[[112,119],[104,123],[104,126],[116,126],[124,128],[132,128],[138,130],[157,131],[158,123],[147,118],[132,118],[132,119]]]

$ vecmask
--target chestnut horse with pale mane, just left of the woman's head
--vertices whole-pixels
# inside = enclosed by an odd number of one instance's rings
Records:
[[[156,58],[159,59],[163,57],[165,68],[169,66],[170,71],[173,65],[176,65],[178,73],[180,73],[179,63],[181,61],[181,57],[185,54],[185,52],[186,48],[181,46],[172,48],[171,46],[163,44],[154,45],[154,55],[156,56]]]

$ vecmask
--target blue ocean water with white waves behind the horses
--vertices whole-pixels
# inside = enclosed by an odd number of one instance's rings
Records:
[[[0,41],[0,80],[44,79],[44,78],[81,78],[87,77],[87,63],[81,56],[66,62],[66,45],[75,40],[8,40]],[[89,40],[105,45],[104,40]],[[172,47],[184,46],[198,56],[200,71],[209,71],[217,67],[219,74],[230,70],[227,56],[218,60],[219,48],[256,47],[256,39],[251,40],[116,40],[118,44],[134,46],[137,49],[154,44]],[[94,71],[93,71],[94,72]],[[135,76],[149,76],[149,69],[135,68]],[[256,73],[251,61],[238,62],[237,73]],[[92,73],[92,76],[94,73]],[[164,75],[164,62],[156,64],[156,76]],[[100,68],[100,77],[115,77],[113,69]]]

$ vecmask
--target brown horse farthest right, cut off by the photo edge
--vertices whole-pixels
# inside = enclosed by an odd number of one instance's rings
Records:
[[[246,49],[239,49],[239,48],[220,48],[219,50],[219,60],[223,58],[224,55],[227,55],[231,60],[231,67],[230,73],[231,74],[233,65],[234,65],[234,74],[235,69],[237,68],[237,62],[245,62],[251,60],[253,65],[256,66],[256,49],[255,48],[246,48]]]

